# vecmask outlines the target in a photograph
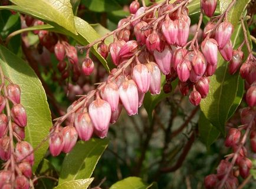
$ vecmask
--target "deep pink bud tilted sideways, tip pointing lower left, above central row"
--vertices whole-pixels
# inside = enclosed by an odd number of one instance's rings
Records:
[[[129,58],[136,53],[138,49],[138,43],[136,41],[126,42],[119,51],[120,58]]]

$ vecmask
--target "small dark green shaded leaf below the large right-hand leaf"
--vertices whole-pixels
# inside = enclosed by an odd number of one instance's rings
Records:
[[[219,137],[219,130],[216,129],[205,117],[204,113],[200,113],[198,121],[199,139],[208,148]]]

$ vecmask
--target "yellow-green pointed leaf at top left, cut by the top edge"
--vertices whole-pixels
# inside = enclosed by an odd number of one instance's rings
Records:
[[[77,34],[69,0],[11,0],[11,2],[24,9],[24,14],[35,16],[52,26],[59,26]]]

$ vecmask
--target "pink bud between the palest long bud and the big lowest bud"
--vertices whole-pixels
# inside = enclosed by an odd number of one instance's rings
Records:
[[[103,90],[101,90],[101,97],[110,104],[112,112],[117,110],[117,106],[119,104],[119,92],[116,83],[108,82]]]

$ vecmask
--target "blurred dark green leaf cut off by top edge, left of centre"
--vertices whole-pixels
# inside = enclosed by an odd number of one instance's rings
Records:
[[[85,0],[83,4],[93,12],[111,12],[122,9],[114,0]]]

